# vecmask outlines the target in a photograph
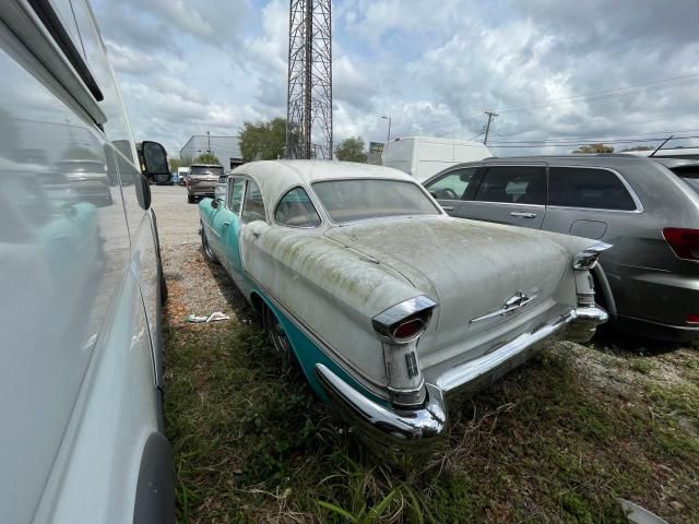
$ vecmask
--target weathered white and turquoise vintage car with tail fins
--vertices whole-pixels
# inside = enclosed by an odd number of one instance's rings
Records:
[[[205,258],[372,442],[429,448],[453,394],[607,319],[590,276],[607,245],[450,217],[395,169],[256,162],[226,183],[199,204]]]

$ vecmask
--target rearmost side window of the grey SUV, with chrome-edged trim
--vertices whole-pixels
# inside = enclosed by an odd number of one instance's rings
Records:
[[[593,210],[633,211],[636,203],[614,172],[607,169],[552,167],[548,205]]]

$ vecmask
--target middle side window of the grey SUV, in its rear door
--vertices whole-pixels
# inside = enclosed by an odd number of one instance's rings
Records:
[[[475,200],[508,204],[546,203],[546,170],[543,166],[494,166],[483,177]]]

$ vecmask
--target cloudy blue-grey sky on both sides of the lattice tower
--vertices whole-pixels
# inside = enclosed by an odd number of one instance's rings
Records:
[[[93,8],[137,140],[176,154],[191,134],[285,117],[288,1]],[[471,139],[486,109],[499,112],[497,155],[699,135],[697,12],[696,0],[333,1],[335,143],[386,140],[383,115],[393,138]]]

